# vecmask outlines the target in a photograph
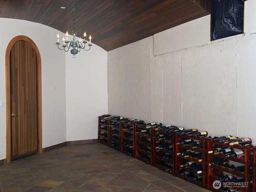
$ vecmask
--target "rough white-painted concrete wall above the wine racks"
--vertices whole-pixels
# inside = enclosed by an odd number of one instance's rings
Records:
[[[247,6],[253,7],[251,11]],[[255,8],[255,1],[245,2],[247,25],[256,22],[251,16]],[[202,28],[208,22],[205,25]],[[191,25],[187,27],[189,31]],[[108,52],[109,114],[197,128],[211,136],[251,137],[255,144],[256,34],[252,33],[255,29],[250,28],[245,35],[173,52],[154,50],[152,36]],[[172,45],[163,34],[161,41]],[[178,34],[182,39],[182,32]]]

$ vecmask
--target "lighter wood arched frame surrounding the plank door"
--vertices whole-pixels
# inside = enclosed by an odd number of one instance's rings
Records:
[[[33,40],[27,36],[16,36],[8,44],[5,52],[5,81],[6,81],[6,163],[11,162],[11,101],[10,101],[10,52],[17,41],[26,41],[32,45],[37,56],[38,68],[38,153],[42,153],[42,78],[41,78],[41,56]]]

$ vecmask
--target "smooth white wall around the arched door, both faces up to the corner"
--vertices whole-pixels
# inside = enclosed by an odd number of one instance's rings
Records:
[[[70,52],[56,47],[58,30],[7,18],[0,18],[0,26],[0,100],[4,100],[0,107],[0,160],[6,158],[5,52],[18,35],[31,38],[41,55],[42,147],[96,138],[97,116],[108,111],[106,51],[94,45],[73,59]]]

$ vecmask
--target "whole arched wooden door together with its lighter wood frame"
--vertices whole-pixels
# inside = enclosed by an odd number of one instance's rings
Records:
[[[42,153],[41,57],[36,44],[16,36],[7,48],[6,163]]]

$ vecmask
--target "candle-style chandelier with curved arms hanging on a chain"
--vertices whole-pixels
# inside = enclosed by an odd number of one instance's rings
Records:
[[[82,39],[79,38],[79,40],[77,41],[76,40],[76,31],[75,31],[75,0],[73,0],[73,40],[69,41],[68,40],[68,31],[66,32],[66,39],[63,37],[62,38],[62,41],[63,41],[63,45],[62,47],[60,48],[59,45],[60,45],[60,42],[59,42],[59,38],[60,38],[60,35],[57,34],[57,42],[56,42],[56,45],[58,46],[58,48],[60,50],[64,50],[66,52],[68,52],[68,50],[70,50],[71,54],[73,54],[73,58],[76,57],[76,54],[78,54],[80,52],[81,49],[85,50],[85,51],[88,51],[90,50],[91,46],[92,46],[92,36],[89,37],[89,48],[88,49],[85,49],[85,46],[86,46],[86,43],[87,43],[87,40],[85,39],[86,37],[86,32],[84,32],[84,40],[82,42]],[[83,43],[83,44],[82,44]]]

